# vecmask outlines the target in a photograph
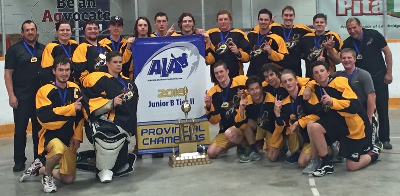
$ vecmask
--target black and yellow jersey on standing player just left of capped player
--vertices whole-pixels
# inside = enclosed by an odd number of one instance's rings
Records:
[[[73,77],[75,81],[83,82],[84,78],[94,71],[108,72],[105,63],[98,63],[101,61],[100,53],[106,55],[110,52],[111,48],[107,45],[97,43],[97,46],[85,41],[81,43],[75,50],[72,57],[73,62]]]

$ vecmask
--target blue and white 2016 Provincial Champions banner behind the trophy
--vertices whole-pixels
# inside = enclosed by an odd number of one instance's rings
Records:
[[[188,120],[195,126],[199,144],[209,144],[205,117],[205,43],[201,35],[136,38],[132,45],[135,83],[139,90],[137,134],[139,153],[171,152],[179,140],[179,119],[188,89]],[[186,129],[187,128],[187,129]],[[188,127],[185,131],[188,131]],[[186,133],[188,135],[188,133]]]

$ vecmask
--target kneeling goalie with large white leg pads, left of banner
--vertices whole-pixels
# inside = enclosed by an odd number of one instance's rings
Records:
[[[120,74],[121,53],[108,53],[106,65],[108,73],[93,72],[82,83],[91,127],[86,136],[95,148],[97,175],[103,183],[133,172],[136,155],[128,154],[128,144],[136,133],[138,101],[136,85]]]

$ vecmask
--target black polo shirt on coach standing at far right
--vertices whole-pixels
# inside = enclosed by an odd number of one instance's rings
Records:
[[[382,55],[382,48],[387,46],[387,42],[383,35],[376,30],[362,28],[364,38],[361,41],[348,37],[341,49],[352,48],[358,55],[354,43],[357,45],[358,50],[362,54],[361,60],[355,61],[355,66],[368,71],[373,80],[382,79],[386,75],[386,63]]]

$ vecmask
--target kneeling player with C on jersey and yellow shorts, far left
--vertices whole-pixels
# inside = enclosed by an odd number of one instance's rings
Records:
[[[22,174],[19,182],[44,174],[44,192],[56,192],[53,178],[70,184],[75,179],[76,150],[83,141],[83,113],[80,89],[68,81],[71,61],[66,56],[54,59],[55,81],[41,87],[36,95],[36,114],[43,128],[39,132],[38,153],[47,151],[46,166],[39,159]],[[59,169],[54,169],[59,164]],[[41,167],[41,168],[40,168]]]

